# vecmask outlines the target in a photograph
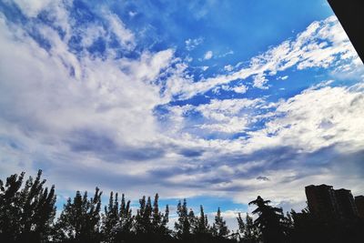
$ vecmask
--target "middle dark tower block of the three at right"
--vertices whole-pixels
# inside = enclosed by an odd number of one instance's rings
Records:
[[[335,190],[339,218],[352,219],[358,217],[358,209],[350,190],[341,188]]]

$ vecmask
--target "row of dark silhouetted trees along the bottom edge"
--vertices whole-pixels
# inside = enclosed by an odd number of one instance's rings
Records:
[[[41,176],[39,170],[35,178],[25,180],[23,172],[0,180],[0,242],[364,242],[360,218],[327,222],[311,215],[308,208],[285,215],[262,197],[249,203],[256,207],[255,219],[238,214],[235,232],[227,228],[220,208],[210,224],[203,206],[196,215],[187,208],[186,199],[177,204],[173,229],[168,228],[169,207],[159,208],[158,194],[140,198],[133,212],[124,194],[111,192],[103,208],[98,187],[91,197],[76,191],[56,218],[55,186],[45,187]]]

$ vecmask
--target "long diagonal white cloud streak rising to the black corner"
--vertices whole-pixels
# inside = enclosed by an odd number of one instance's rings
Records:
[[[210,51],[205,54],[208,59],[212,56]],[[245,80],[249,76],[255,77],[255,87],[268,88],[265,86],[268,82],[267,76],[276,75],[295,66],[298,70],[312,67],[333,70],[346,68],[346,73],[358,69],[359,76],[364,73],[359,56],[351,46],[349,38],[337,18],[331,16],[326,20],[312,23],[305,31],[299,33],[296,39],[285,41],[261,55],[254,56],[248,66],[243,66],[232,74],[204,78],[198,82],[189,82],[183,76],[180,77],[183,84],[178,84],[177,94],[180,98],[187,99],[207,92],[215,86],[228,84],[237,79]],[[358,72],[355,75],[358,76]]]

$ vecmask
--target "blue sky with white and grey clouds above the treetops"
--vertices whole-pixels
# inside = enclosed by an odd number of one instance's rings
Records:
[[[364,194],[364,66],[326,0],[0,1],[0,178],[137,207]],[[174,214],[172,214],[173,218]]]

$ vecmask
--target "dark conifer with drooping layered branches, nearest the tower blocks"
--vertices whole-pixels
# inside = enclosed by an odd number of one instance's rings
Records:
[[[258,214],[254,221],[263,235],[263,242],[284,242],[284,220],[283,210],[269,206],[269,200],[264,200],[258,196],[256,200],[249,202],[249,205],[256,205],[253,214]]]

